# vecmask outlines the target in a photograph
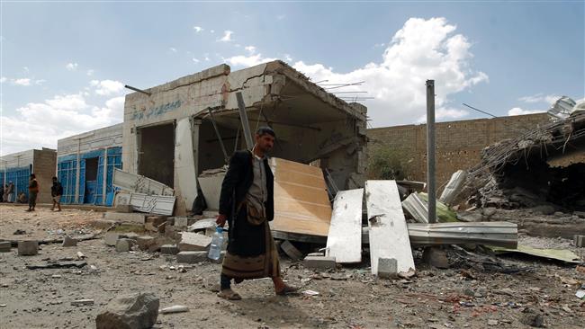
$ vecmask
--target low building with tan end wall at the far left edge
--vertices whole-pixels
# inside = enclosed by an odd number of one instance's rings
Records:
[[[13,182],[14,198],[21,192],[28,198],[29,178],[31,173],[34,173],[41,189],[37,202],[49,203],[56,157],[57,153],[54,149],[45,147],[0,157],[0,186],[4,187],[5,184]]]

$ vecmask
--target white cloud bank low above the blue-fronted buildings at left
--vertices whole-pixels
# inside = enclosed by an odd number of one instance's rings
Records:
[[[3,127],[2,153],[28,148],[57,147],[59,138],[121,122],[124,97],[103,106],[88,104],[82,93],[55,95],[44,102],[29,102],[14,115],[0,117]],[[5,111],[4,111],[5,112]]]

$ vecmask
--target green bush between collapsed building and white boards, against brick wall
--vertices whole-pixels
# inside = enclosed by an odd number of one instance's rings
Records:
[[[403,180],[408,176],[408,158],[390,147],[376,147],[368,158],[367,178],[371,180]]]

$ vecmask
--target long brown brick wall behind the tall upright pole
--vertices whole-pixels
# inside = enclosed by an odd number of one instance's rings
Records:
[[[493,119],[437,122],[437,185],[447,182],[459,169],[482,161],[482,150],[500,140],[515,138],[549,122],[546,113]],[[380,147],[392,148],[410,180],[427,181],[427,125],[403,125],[368,129],[368,154]]]

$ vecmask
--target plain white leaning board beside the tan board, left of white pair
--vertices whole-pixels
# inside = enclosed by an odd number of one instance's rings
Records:
[[[335,262],[362,262],[362,200],[364,189],[339,191],[327,237],[326,256]]]

